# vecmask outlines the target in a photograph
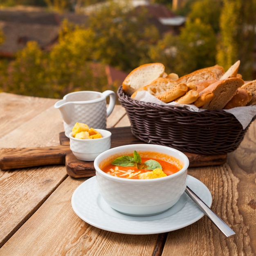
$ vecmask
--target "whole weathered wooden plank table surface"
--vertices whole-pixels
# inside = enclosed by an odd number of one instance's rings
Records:
[[[58,146],[63,123],[56,99],[0,93],[0,148]],[[115,106],[107,127],[130,126]],[[239,148],[220,166],[189,168],[211,191],[211,209],[235,232],[225,238],[203,216],[164,234],[104,231],[74,213],[71,197],[88,178],[64,165],[0,170],[0,255],[256,255],[256,121]],[[168,225],[168,223],[166,223]]]

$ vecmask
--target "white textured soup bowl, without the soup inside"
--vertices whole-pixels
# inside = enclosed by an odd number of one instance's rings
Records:
[[[153,151],[175,157],[183,167],[172,175],[150,180],[114,177],[101,170],[104,164],[113,160],[113,155],[115,157],[132,155],[134,150],[138,153]],[[94,161],[99,193],[104,200],[117,211],[135,216],[153,215],[172,207],[186,189],[188,166],[189,159],[182,152],[153,144],[133,144],[111,148],[101,153]]]

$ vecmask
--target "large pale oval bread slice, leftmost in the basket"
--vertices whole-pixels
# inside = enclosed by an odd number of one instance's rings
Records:
[[[135,68],[124,79],[122,85],[124,92],[131,95],[139,88],[149,85],[164,74],[164,68],[162,63],[148,63]]]

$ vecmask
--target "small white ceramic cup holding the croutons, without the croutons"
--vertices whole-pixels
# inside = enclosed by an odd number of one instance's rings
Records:
[[[101,133],[99,139],[76,139],[70,132],[70,149],[77,159],[93,161],[100,153],[108,150],[111,145],[111,132],[103,129],[95,129]]]

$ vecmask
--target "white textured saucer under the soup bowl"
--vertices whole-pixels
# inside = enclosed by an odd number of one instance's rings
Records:
[[[188,175],[187,185],[209,207],[211,192],[198,179]],[[204,213],[184,192],[170,209],[154,216],[128,216],[112,209],[97,189],[96,176],[83,182],[73,193],[71,204],[74,212],[88,224],[120,234],[148,235],[181,229],[200,220]]]

